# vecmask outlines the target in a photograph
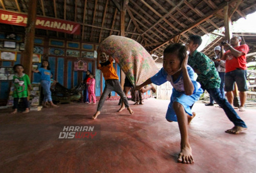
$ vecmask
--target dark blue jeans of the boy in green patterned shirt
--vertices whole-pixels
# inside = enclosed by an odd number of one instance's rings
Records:
[[[247,127],[245,122],[234,111],[233,107],[221,96],[220,89],[206,89],[206,91],[214,98],[214,100],[221,106],[228,119],[236,126]]]

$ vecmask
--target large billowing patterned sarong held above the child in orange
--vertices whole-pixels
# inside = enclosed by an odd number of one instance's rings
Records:
[[[113,57],[133,85],[141,84],[159,71],[152,56],[131,38],[111,35],[101,42],[97,52]]]

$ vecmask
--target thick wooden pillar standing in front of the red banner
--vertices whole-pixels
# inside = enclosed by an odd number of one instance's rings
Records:
[[[29,1],[28,21],[25,30],[25,51],[22,55],[22,62],[25,68],[25,73],[30,77],[32,76],[32,55],[34,49],[35,38],[35,21],[36,21],[36,4],[37,1]]]

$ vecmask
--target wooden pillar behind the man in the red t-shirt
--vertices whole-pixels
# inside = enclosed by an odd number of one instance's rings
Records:
[[[224,7],[224,27],[225,27],[225,37],[226,41],[229,43],[230,38],[232,38],[232,31],[231,31],[231,15],[230,15],[230,7],[227,5]],[[237,83],[234,83],[234,90],[233,92],[233,105],[239,107],[240,99],[238,94],[238,87]]]

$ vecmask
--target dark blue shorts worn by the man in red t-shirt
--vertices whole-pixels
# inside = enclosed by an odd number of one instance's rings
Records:
[[[233,91],[234,82],[238,85],[238,91],[247,91],[246,77],[247,70],[237,69],[225,73],[225,91]]]

